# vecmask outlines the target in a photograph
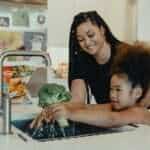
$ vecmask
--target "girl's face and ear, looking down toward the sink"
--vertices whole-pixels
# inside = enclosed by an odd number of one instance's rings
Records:
[[[110,82],[110,99],[113,109],[121,110],[136,104],[141,96],[141,88],[132,88],[126,75],[115,74]]]

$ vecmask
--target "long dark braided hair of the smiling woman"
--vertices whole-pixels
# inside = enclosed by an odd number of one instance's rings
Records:
[[[71,63],[74,63],[75,56],[79,53],[81,49],[76,37],[76,29],[77,27],[84,23],[90,21],[92,24],[97,25],[99,28],[102,26],[105,30],[106,41],[111,45],[115,46],[116,43],[119,42],[118,39],[112,34],[108,25],[101,18],[101,16],[96,11],[87,11],[80,12],[74,17],[73,23],[71,25],[70,37],[69,37],[69,85],[70,85],[70,72],[71,72]]]

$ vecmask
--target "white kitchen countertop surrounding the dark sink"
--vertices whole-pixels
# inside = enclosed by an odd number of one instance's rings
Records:
[[[20,113],[20,117],[35,115],[38,112],[32,105],[13,106],[15,117]],[[23,113],[26,112],[26,113]],[[33,113],[34,112],[34,113]],[[26,115],[24,115],[26,114]],[[31,116],[32,116],[31,115]],[[88,137],[62,139],[56,141],[37,142],[26,135],[27,141],[18,136],[20,131],[12,127],[13,134],[2,134],[2,118],[0,117],[0,149],[1,150],[149,150],[150,149],[150,126],[139,125],[138,128],[124,127],[125,132],[101,134]],[[131,129],[127,130],[126,129]]]

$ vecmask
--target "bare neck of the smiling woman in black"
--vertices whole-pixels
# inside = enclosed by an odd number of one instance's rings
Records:
[[[104,42],[103,47],[94,56],[98,64],[106,64],[111,57],[111,47],[110,44]]]

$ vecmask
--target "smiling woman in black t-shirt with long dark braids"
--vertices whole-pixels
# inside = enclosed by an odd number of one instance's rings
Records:
[[[69,43],[72,101],[85,103],[90,87],[97,103],[109,102],[109,72],[120,43],[96,11],[75,16]]]

